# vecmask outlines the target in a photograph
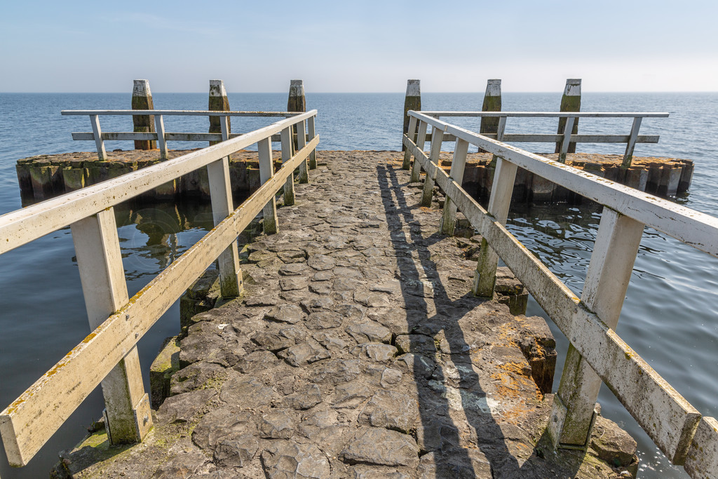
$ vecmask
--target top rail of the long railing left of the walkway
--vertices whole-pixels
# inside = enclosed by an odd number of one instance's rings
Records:
[[[302,113],[302,115],[278,121],[238,138],[222,141],[212,147],[174,158],[172,162],[154,164],[151,167],[1,215],[0,238],[3,238],[4,241],[0,241],[0,254],[89,215],[94,215],[123,200],[152,190],[195,169],[205,167],[211,162],[227,157],[239,149],[255,144],[268,135],[281,131],[287,125],[304,121],[316,114],[316,110]]]

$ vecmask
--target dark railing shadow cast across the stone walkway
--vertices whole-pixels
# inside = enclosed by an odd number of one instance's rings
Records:
[[[404,175],[404,172],[401,174]],[[549,473],[547,467],[551,467],[551,464],[537,457],[536,450],[519,465],[506,445],[503,429],[488,408],[487,395],[482,390],[478,374],[472,368],[471,348],[459,321],[485,301],[474,297],[470,291],[457,299],[450,297],[439,278],[437,264],[432,260],[429,250],[445,236],[433,233],[424,237],[421,233],[421,223],[414,215],[419,204],[407,203],[402,187],[409,183],[399,180],[396,169],[379,165],[377,177],[381,190],[393,192],[393,197],[385,194],[381,197],[401,274],[401,294],[406,304],[410,333],[409,350],[424,350],[427,338],[429,345],[434,345],[444,331],[454,366],[451,368],[452,379],[458,383],[458,388],[452,388],[444,377],[446,371],[441,365],[432,370],[432,359],[429,359],[427,365],[426,361],[414,356],[413,372],[419,392],[421,417],[417,439],[421,453],[434,452],[437,477],[541,477]],[[405,225],[409,227],[408,233]],[[438,224],[436,229],[439,229]],[[418,258],[418,261],[414,258]],[[417,287],[426,284],[422,280],[429,282],[433,288],[434,307],[421,294],[421,289],[417,290]],[[447,331],[449,334],[445,334]],[[411,368],[411,365],[408,366]],[[460,399],[467,424],[454,424],[454,419],[449,416],[449,408],[456,399]],[[461,437],[465,434],[478,449],[462,445]],[[567,457],[569,460],[563,466],[568,468],[564,472],[573,477],[581,460],[578,452],[570,455],[572,457]]]

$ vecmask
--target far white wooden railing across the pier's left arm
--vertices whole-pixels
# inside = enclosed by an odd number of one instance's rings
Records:
[[[290,118],[301,113],[294,111],[210,111],[210,110],[63,110],[62,115],[89,116],[93,131],[73,132],[73,140],[94,140],[97,146],[98,158],[107,159],[105,141],[122,140],[157,140],[160,159],[167,159],[167,141],[224,141],[230,138],[242,136],[241,133],[231,133],[229,118],[232,116],[243,117],[276,117]],[[102,131],[100,126],[101,116],[154,116],[156,131]],[[221,133],[172,133],[164,129],[164,116],[208,116],[220,118]],[[296,134],[296,131],[294,132]],[[314,124],[307,125],[306,137],[314,137]],[[271,141],[281,141],[279,135],[271,137]],[[296,143],[296,142],[295,142]],[[315,167],[314,154],[309,162]]]

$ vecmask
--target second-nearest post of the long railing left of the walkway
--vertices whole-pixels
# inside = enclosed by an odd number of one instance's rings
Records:
[[[222,140],[229,137],[229,118],[218,117]],[[207,165],[207,176],[210,183],[210,200],[212,202],[212,218],[218,225],[234,210],[232,187],[229,180],[229,157],[218,159]],[[233,241],[217,259],[220,271],[220,292],[222,297],[238,297],[243,290],[242,270],[239,267],[237,242]]]

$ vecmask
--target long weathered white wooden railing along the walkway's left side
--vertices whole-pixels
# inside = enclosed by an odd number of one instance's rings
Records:
[[[319,144],[314,134],[316,115],[316,110],[292,113],[237,138],[0,216],[0,254],[70,225],[93,330],[0,413],[0,433],[11,465],[26,465],[99,383],[111,442],[142,440],[151,427],[151,414],[136,343],[214,261],[218,261],[223,297],[241,293],[238,235],[260,211],[264,231],[276,232],[276,193],[284,187],[284,203],[293,204],[294,170],[299,169],[300,182],[308,181],[307,158]],[[297,131],[297,152],[292,129]],[[100,136],[99,129],[96,134]],[[281,137],[282,167],[276,174],[274,134]],[[262,185],[235,209],[228,156],[253,144]],[[203,167],[210,180],[215,228],[128,298],[113,206]]]

